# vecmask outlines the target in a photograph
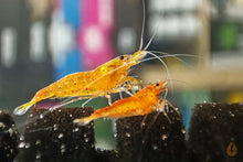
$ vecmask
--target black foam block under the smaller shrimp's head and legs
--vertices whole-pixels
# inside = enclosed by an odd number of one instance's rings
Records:
[[[119,161],[147,162],[181,161],[184,155],[184,129],[179,111],[169,108],[168,118],[162,112],[123,118],[116,121]]]

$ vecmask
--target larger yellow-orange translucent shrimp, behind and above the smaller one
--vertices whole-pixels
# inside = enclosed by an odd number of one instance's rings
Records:
[[[29,102],[17,107],[13,114],[23,115],[31,106],[47,98],[80,97],[78,99],[86,99],[101,96],[108,98],[112,93],[126,90],[126,88],[120,88],[120,85],[126,82],[139,86],[141,83],[139,79],[128,76],[130,66],[138,64],[134,58],[130,62],[129,57],[130,55],[122,55],[94,71],[66,75],[39,90]]]

